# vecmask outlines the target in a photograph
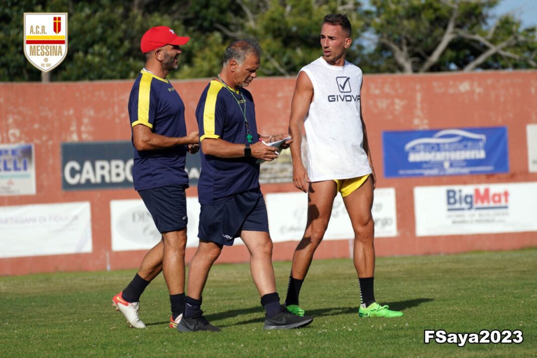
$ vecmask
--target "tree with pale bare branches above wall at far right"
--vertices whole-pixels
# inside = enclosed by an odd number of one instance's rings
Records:
[[[362,13],[378,42],[360,62],[382,72],[534,68],[535,27],[509,14],[494,20],[498,0],[372,0]]]

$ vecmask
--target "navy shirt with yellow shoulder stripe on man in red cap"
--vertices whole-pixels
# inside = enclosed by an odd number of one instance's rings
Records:
[[[166,137],[186,136],[185,105],[168,79],[142,70],[130,91],[128,107],[131,130],[143,125]],[[142,151],[134,148],[134,189],[188,185],[185,157],[186,145]]]

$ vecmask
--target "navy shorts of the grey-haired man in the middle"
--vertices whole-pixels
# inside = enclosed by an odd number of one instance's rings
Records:
[[[217,204],[201,204],[198,237],[231,246],[241,231],[269,232],[269,218],[260,189],[232,196]]]

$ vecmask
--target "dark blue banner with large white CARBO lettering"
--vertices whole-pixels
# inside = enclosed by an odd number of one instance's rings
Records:
[[[62,143],[63,190],[133,188],[134,148],[130,141]],[[190,185],[197,185],[199,153],[186,155]]]

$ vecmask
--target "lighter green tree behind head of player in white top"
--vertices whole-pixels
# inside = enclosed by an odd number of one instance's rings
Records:
[[[230,39],[256,38],[263,48],[265,75],[295,75],[303,65],[320,56],[319,34],[327,13],[346,12],[358,37],[363,21],[358,16],[356,0],[233,0],[241,11],[232,14],[228,25],[214,27]],[[242,21],[241,21],[242,19]],[[359,49],[354,46],[351,52]]]

